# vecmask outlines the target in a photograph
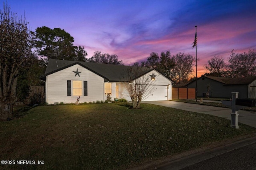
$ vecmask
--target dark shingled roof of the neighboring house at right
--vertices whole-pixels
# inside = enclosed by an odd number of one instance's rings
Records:
[[[213,77],[213,76],[204,76],[204,77],[210,78],[212,80],[216,80],[218,82],[222,82],[225,85],[250,84],[254,80],[256,80],[256,76],[240,77],[240,78],[226,78],[226,77]]]

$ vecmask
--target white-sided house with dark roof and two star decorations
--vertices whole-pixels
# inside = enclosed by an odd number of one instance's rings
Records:
[[[49,59],[45,74],[41,76],[45,81],[46,102],[75,103],[78,96],[80,103],[105,101],[108,93],[112,100],[131,101],[122,86],[128,83],[122,76],[128,68],[130,66]],[[142,69],[140,76],[155,77],[154,92],[144,101],[171,100],[173,82],[155,69]]]

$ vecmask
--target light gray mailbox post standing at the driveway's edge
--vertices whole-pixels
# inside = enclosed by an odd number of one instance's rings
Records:
[[[238,92],[232,92],[232,101],[231,101],[231,127],[238,129],[238,111],[236,110],[236,98],[238,98]]]

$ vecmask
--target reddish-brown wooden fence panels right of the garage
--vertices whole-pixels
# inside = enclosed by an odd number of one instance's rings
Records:
[[[172,99],[196,99],[196,88],[172,88]]]

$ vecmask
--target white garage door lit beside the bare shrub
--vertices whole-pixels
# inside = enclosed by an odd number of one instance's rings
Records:
[[[154,86],[154,92],[144,99],[144,101],[158,101],[158,100],[167,100],[167,86],[158,85]]]

